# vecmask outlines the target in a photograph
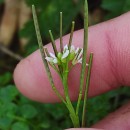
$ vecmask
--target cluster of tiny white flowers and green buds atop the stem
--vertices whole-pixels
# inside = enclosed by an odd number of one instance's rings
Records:
[[[73,45],[68,47],[64,46],[63,52],[58,52],[57,56],[53,53],[49,53],[49,56],[46,56],[46,60],[51,64],[62,65],[63,63],[72,62],[72,65],[77,63],[82,63],[82,54],[83,49],[75,48]]]

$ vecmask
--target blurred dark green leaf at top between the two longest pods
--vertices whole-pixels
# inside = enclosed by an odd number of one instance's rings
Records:
[[[81,3],[75,6],[71,0],[53,0],[48,7],[43,9],[39,14],[39,23],[43,37],[49,38],[48,30],[50,29],[56,38],[59,37],[59,12],[63,12],[63,33],[65,34],[72,20],[74,20],[78,14],[80,7]]]

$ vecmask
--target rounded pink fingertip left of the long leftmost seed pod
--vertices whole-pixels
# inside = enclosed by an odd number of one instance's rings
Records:
[[[39,51],[23,59],[16,66],[14,82],[18,90],[31,100],[45,103],[57,100],[49,84]]]

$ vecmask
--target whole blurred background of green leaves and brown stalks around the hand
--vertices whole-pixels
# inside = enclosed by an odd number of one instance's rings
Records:
[[[89,25],[114,18],[130,10],[130,0],[88,0]],[[63,33],[83,28],[83,0],[0,0],[0,130],[62,130],[72,127],[62,104],[41,104],[22,96],[13,82],[16,64],[38,49],[31,5],[37,8],[43,44],[50,42],[48,30],[59,37],[59,12]],[[130,88],[122,87],[89,99],[87,125],[91,126],[130,99]],[[74,104],[75,105],[75,104]]]

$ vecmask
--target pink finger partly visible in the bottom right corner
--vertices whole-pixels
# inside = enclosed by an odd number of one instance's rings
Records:
[[[130,130],[130,103],[110,113],[92,128],[72,128],[68,130]]]

